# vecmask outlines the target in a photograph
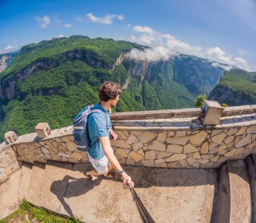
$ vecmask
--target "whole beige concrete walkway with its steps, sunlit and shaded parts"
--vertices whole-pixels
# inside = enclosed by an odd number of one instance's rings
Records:
[[[218,222],[220,208],[225,210],[227,222],[251,218],[255,206],[251,207],[249,183],[255,185],[255,175],[248,178],[247,166],[246,161],[229,161],[221,169],[123,168],[156,222],[204,223]],[[82,172],[91,168],[88,163],[48,161],[33,167],[24,163],[22,169],[0,181],[0,219],[26,197],[37,206],[77,216],[84,222],[141,222],[131,192],[122,189],[121,180],[94,177],[89,181]]]

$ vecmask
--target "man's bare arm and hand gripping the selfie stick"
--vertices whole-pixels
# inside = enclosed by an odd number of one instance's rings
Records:
[[[102,148],[106,154],[106,158],[108,161],[113,165],[114,169],[119,172],[122,170],[121,165],[119,164],[119,161],[117,160],[117,157],[115,157],[115,154],[112,152],[112,148],[110,145],[109,138],[107,136],[105,137],[99,137],[100,138],[100,143],[102,145]],[[128,189],[128,185],[134,185],[133,181],[131,181],[131,177],[127,175],[127,173],[122,173],[122,179],[123,179],[123,188]]]

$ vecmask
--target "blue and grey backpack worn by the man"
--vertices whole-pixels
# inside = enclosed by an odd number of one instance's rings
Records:
[[[89,105],[84,107],[84,109],[79,112],[75,119],[73,120],[73,136],[75,140],[75,145],[77,146],[77,150],[82,152],[88,152],[90,150],[90,138],[88,132],[88,124],[87,120],[90,114],[98,112],[106,115],[100,109],[94,109],[94,105]]]

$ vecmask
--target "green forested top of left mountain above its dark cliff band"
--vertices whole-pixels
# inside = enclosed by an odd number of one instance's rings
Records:
[[[73,60],[94,60],[97,58],[97,61],[101,62],[102,66],[112,67],[120,54],[124,50],[131,50],[134,47],[133,45],[125,41],[117,42],[113,39],[104,38],[90,39],[86,36],[53,38],[50,41],[44,40],[38,44],[23,46],[9,69],[5,70],[2,75],[10,75],[12,77],[36,60],[47,58],[52,60],[54,58],[55,62],[58,63],[65,60],[67,56]],[[70,53],[68,54],[67,52]],[[73,56],[72,52],[80,54],[80,57]],[[90,54],[91,58],[86,58],[86,54]]]

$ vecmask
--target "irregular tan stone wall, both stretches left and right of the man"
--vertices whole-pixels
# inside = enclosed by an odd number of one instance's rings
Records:
[[[123,165],[216,168],[229,159],[244,159],[256,153],[256,114],[221,118],[216,126],[203,126],[200,118],[118,121],[114,124],[118,139],[111,144]],[[11,161],[15,154],[17,161],[28,163],[88,162],[86,152],[77,150],[73,143],[73,126],[51,130],[43,139],[38,138],[36,132],[20,136],[8,151]],[[15,162],[13,168],[17,167]]]

